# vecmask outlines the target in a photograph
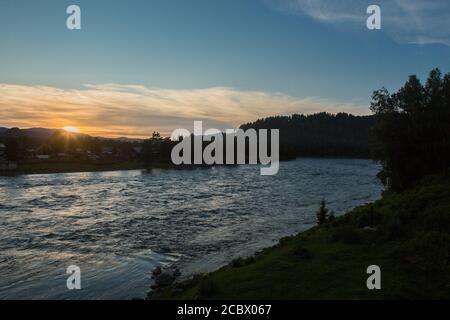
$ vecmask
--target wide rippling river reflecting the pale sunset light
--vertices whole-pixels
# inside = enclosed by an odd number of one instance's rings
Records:
[[[0,177],[0,299],[145,297],[151,271],[184,276],[310,228],[326,199],[337,214],[380,197],[369,160],[258,167]],[[81,269],[68,290],[66,269]]]

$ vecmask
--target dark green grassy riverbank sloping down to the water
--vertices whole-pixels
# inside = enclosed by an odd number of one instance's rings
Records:
[[[366,287],[370,265],[381,268],[382,290]],[[385,195],[153,298],[450,299],[450,179]]]

